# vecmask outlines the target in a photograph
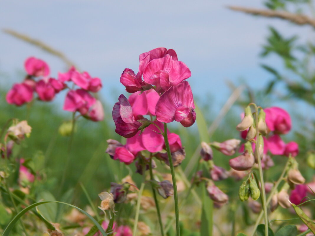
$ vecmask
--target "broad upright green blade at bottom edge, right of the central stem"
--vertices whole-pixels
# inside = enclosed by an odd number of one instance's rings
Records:
[[[201,225],[200,236],[212,235],[213,224],[213,202],[207,194],[207,189],[204,184],[201,184],[202,188],[202,212],[201,212]]]

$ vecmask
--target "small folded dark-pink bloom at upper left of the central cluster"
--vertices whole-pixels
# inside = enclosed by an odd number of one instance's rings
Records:
[[[126,68],[120,76],[119,80],[126,87],[128,93],[135,93],[142,90],[142,86],[146,83],[142,81],[140,73],[137,75],[131,69]]]

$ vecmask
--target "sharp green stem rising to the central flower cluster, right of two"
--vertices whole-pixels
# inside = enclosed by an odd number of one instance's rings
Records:
[[[172,175],[173,188],[174,188],[176,235],[180,236],[179,208],[178,208],[178,194],[177,194],[177,186],[176,186],[176,177],[175,177],[175,170],[174,170],[174,165],[173,165],[173,160],[172,160],[171,149],[169,147],[169,140],[167,138],[167,125],[166,125],[166,123],[164,123],[163,137],[164,137],[167,155],[169,157],[169,167],[171,168],[171,175]]]

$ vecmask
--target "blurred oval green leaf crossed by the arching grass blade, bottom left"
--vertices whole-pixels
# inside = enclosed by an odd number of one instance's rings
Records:
[[[40,192],[37,195],[37,201],[51,201],[54,202],[56,199],[48,191]],[[49,222],[56,222],[58,205],[56,203],[49,203],[37,207],[37,212],[40,213]]]

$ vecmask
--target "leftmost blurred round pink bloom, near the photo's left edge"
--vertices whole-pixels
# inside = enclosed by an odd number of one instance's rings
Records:
[[[33,99],[33,89],[26,83],[14,84],[6,96],[9,104],[21,106]]]

